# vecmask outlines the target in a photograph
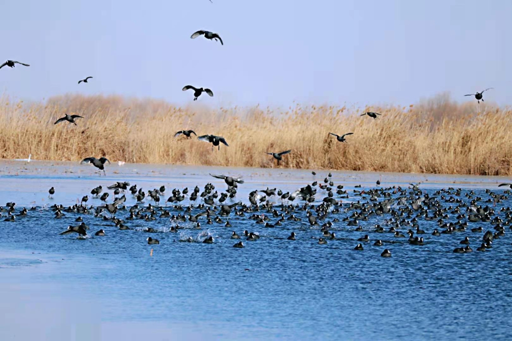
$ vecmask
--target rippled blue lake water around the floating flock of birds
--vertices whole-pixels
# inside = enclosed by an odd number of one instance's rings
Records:
[[[490,198],[486,188],[500,194],[507,189],[497,187],[506,180],[501,177],[333,171],[333,188],[344,185],[349,197],[343,198],[340,213],[321,221],[339,219],[329,229],[338,239],[328,239],[326,245],[317,244],[321,226],[310,226],[302,208],[293,212],[300,221],[286,220],[274,228],[256,224],[249,219],[252,213],[245,217],[231,213],[221,218],[222,223],[206,224],[206,218],[201,218],[200,230],[193,223],[180,223],[184,229],[178,233],[169,232],[176,224],[169,218],[126,220],[132,230],[119,231],[112,221],[92,214],[63,212],[65,217],[55,219],[50,209],[54,203],[71,206],[86,194],[88,206],[100,206],[100,199],[93,199],[90,191],[98,185],[106,190],[116,181],[130,181],[145,191],[165,185],[161,204],[173,188],[192,190],[198,185],[202,191],[210,182],[219,193],[225,191],[224,181],[208,173],[243,176],[245,183],[239,185],[236,199],[248,203],[252,190],[277,187],[292,192],[315,180],[323,184],[329,171],[313,176],[306,170],[126,164],[112,165],[106,177],[98,177],[92,166],[75,163],[1,164],[0,204],[15,201],[16,213],[23,207],[37,210],[14,222],[4,221],[5,212],[0,219],[0,311],[4,316],[0,339],[512,338],[509,226],[493,248],[481,253],[476,248],[483,233],[471,232],[471,228],[482,226],[484,232],[494,232],[496,223],[470,222],[465,232],[434,237],[431,232],[440,229],[437,221],[419,217],[418,224],[426,232],[425,245],[416,246],[393,233],[374,232],[375,224],[389,229],[390,214],[359,221],[362,232],[343,220],[354,212],[344,210],[350,202],[369,199],[355,196],[354,189],[376,188],[379,177],[385,188],[407,188],[410,182],[424,181],[420,188],[431,196],[442,188],[462,188],[460,195],[445,197],[453,196],[466,205],[471,201],[466,194],[481,197],[478,204],[482,207],[493,207],[493,202],[485,202]],[[50,199],[52,186],[56,193]],[[112,202],[114,195],[109,192],[108,202]],[[315,205],[325,193],[318,189]],[[126,198],[127,208],[136,203],[130,193]],[[281,213],[282,200],[269,200]],[[150,203],[147,197],[144,201],[145,206]],[[200,198],[195,206],[199,202]],[[443,207],[457,206],[456,202],[440,202]],[[182,202],[183,206],[188,203],[188,198]],[[298,199],[295,203],[304,204]],[[509,198],[497,203],[491,218],[505,220],[500,209],[511,204]],[[393,205],[395,210],[400,207],[398,201]],[[164,208],[171,214],[184,214],[171,206]],[[202,211],[195,208],[192,212]],[[270,223],[278,220],[266,210],[255,213],[270,217]],[[465,208],[461,208],[463,213]],[[124,219],[129,211],[115,215]],[[458,214],[448,215],[445,222],[459,220]],[[88,237],[59,235],[68,225],[78,224],[78,216],[90,226]],[[232,227],[224,226],[226,219]],[[157,232],[143,232],[150,227]],[[99,229],[106,236],[95,237]],[[405,234],[408,229],[402,226],[399,231]],[[231,232],[242,235],[244,230],[261,238],[246,241],[242,237],[245,247],[233,248],[238,240],[230,238]],[[295,241],[286,239],[292,231]],[[354,251],[357,239],[365,234],[370,242],[364,243],[364,251]],[[180,242],[189,236],[198,241],[213,236],[215,242]],[[474,252],[454,254],[465,236]],[[160,244],[148,245],[147,237]],[[373,246],[377,239],[385,245]],[[384,248],[391,250],[391,258],[380,257]]]

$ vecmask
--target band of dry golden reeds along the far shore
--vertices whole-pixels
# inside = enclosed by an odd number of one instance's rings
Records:
[[[360,117],[377,111],[374,120]],[[76,113],[78,126],[53,123]],[[229,147],[174,138],[182,129],[223,136]],[[343,134],[337,142],[329,132]],[[266,151],[291,149],[281,167],[444,174],[512,174],[512,110],[447,95],[409,107],[297,105],[175,107],[163,101],[65,95],[47,103],[0,99],[0,157],[240,167],[276,167]]]

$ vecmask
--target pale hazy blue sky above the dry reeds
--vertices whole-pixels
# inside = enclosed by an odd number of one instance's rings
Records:
[[[2,3],[0,94],[118,94],[179,105],[410,104],[495,87],[512,104],[508,0],[15,0]],[[224,46],[199,29],[220,34]],[[93,76],[89,84],[77,84]]]

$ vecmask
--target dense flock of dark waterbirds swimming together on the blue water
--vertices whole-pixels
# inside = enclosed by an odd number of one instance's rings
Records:
[[[316,175],[315,172],[312,173],[313,176]],[[86,217],[90,217],[91,220],[101,219],[102,225],[106,222],[117,230],[160,233],[160,236],[165,236],[167,232],[201,230],[203,222],[219,228],[220,230],[215,232],[219,231],[218,235],[214,236],[208,230],[203,231],[197,238],[188,236],[181,238],[180,241],[213,244],[217,238],[222,239],[222,235],[231,239],[245,238],[246,241],[267,238],[295,241],[301,239],[301,234],[306,235],[307,231],[315,234],[317,231],[320,235],[316,237],[316,243],[320,245],[336,240],[354,241],[357,243],[355,251],[364,251],[365,245],[390,245],[381,252],[382,257],[391,257],[391,245],[397,243],[410,244],[411,247],[426,245],[428,248],[429,244],[437,242],[436,237],[459,234],[464,237],[450,239],[458,245],[453,249],[454,253],[473,252],[470,245],[472,240],[480,244],[477,251],[485,252],[505,235],[505,226],[512,230],[512,211],[504,205],[512,189],[512,184],[508,183],[499,185],[509,188],[503,193],[494,193],[490,190],[476,193],[473,190],[448,188],[429,194],[420,189],[421,183],[410,184],[408,188],[383,188],[380,187],[378,180],[376,188],[362,189],[361,186],[355,186],[349,193],[343,185],[335,186],[332,174],[329,173],[323,182],[315,180],[292,193],[283,193],[281,190],[268,187],[265,190],[253,190],[248,195],[249,202],[243,203],[234,201],[238,185],[244,184],[242,178],[210,175],[224,180],[227,185],[225,192],[220,191],[219,194],[211,183],[206,184],[203,190],[199,186],[191,191],[188,188],[174,189],[165,206],[161,206],[160,197],[166,193],[165,186],[144,192],[128,182],[117,182],[107,187],[107,190],[113,191],[112,202],[108,202],[109,192],[103,192],[103,187],[98,186],[91,191],[91,195],[93,199],[99,199],[101,204],[87,206],[89,196],[85,195],[80,204],[69,207],[54,204],[51,210],[56,219],[72,219],[79,222],[77,225],[69,225],[60,235],[76,233],[80,239],[88,239],[89,226],[84,221],[88,219]],[[132,206],[125,204],[127,191],[136,201]],[[54,194],[55,189],[52,187],[49,190],[49,197],[53,197]],[[194,202],[198,198],[202,202],[195,205]],[[153,204],[145,204],[145,200],[153,201]],[[187,204],[184,204],[185,200],[188,201]],[[300,203],[294,203],[295,200]],[[167,206],[169,204],[170,206]],[[8,214],[4,221],[19,221],[23,216],[31,214],[29,211],[48,210],[33,207],[30,210],[23,208],[16,213],[15,205],[14,202],[8,202],[6,207],[0,207],[0,216],[2,212]],[[67,217],[68,214],[70,217]],[[116,215],[124,217],[119,218]],[[162,219],[163,224],[160,223],[160,227],[148,226]],[[230,232],[229,235],[225,234],[224,231],[229,231],[227,228],[232,227],[231,223],[247,226],[251,224],[250,220],[265,231],[259,233],[246,229],[242,234],[236,231]],[[429,225],[431,230],[424,231],[420,223]],[[482,225],[487,227],[484,229]],[[109,233],[116,232],[112,230]],[[109,233],[100,229],[94,235],[103,237]],[[282,235],[283,233],[289,235]],[[336,234],[342,236],[338,237]],[[432,238],[424,237],[427,234]],[[160,240],[153,236],[146,238],[147,244],[160,244]],[[245,246],[243,241],[237,241],[233,245],[236,248]]]

